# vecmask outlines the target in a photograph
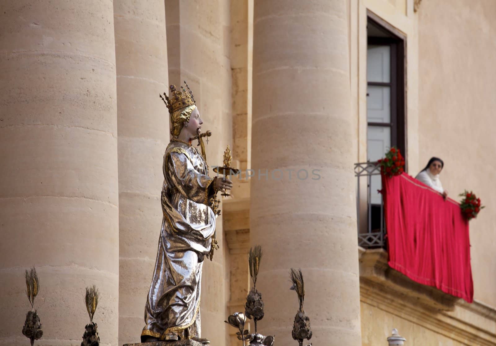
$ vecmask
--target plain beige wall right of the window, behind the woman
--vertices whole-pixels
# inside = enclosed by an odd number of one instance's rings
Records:
[[[496,306],[496,2],[423,1],[419,9],[418,172],[439,156],[449,196],[473,190],[487,205],[470,221],[475,299]],[[413,168],[413,167],[412,167]]]

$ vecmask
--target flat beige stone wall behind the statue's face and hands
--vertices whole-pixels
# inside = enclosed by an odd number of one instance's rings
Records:
[[[206,144],[210,166],[221,165],[225,148],[233,143],[229,5],[229,0],[165,1],[169,83],[179,85],[186,80],[193,91],[202,131],[212,131]],[[224,320],[229,299],[222,215],[216,231],[220,249],[213,261],[206,259],[203,265],[200,313],[202,337],[222,346],[228,338]]]

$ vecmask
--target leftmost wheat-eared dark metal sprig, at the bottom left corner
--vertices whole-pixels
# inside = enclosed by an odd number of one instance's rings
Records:
[[[26,314],[26,321],[22,327],[22,334],[29,338],[31,341],[31,346],[34,345],[34,341],[40,339],[43,336],[43,330],[41,329],[40,316],[36,310],[34,310],[34,298],[38,295],[40,290],[40,280],[38,279],[38,274],[33,266],[30,270],[26,269],[26,294],[31,304],[31,311]],[[34,311],[33,311],[34,310]]]

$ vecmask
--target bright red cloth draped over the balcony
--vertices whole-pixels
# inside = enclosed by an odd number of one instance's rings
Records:
[[[471,303],[468,221],[458,202],[403,173],[382,177],[389,266]]]

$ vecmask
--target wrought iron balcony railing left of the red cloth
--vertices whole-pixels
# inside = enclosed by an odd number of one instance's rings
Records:
[[[365,248],[385,247],[386,225],[381,189],[380,166],[377,162],[355,163],[357,177],[358,245]]]

